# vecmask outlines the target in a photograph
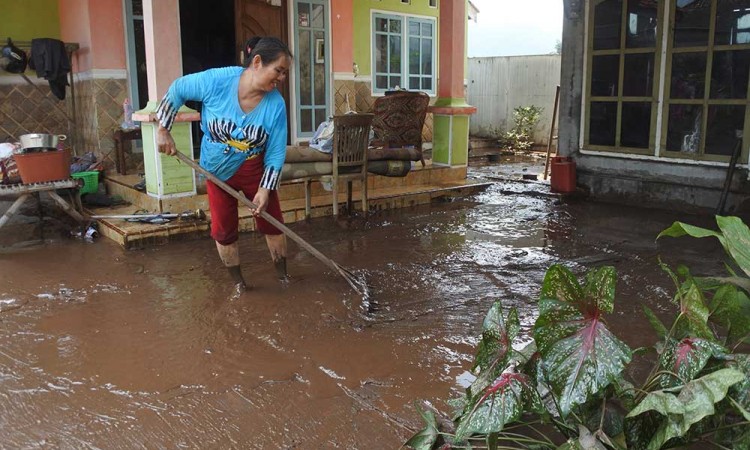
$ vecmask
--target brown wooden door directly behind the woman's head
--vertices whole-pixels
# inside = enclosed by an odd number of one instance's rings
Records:
[[[274,6],[271,3],[279,3]],[[289,33],[287,27],[287,0],[269,2],[268,0],[235,0],[235,34],[237,36],[237,64],[242,65],[242,54],[245,42],[253,36],[271,36],[281,39],[289,45]],[[287,123],[289,111],[289,79],[279,86],[279,92],[286,102]],[[287,136],[288,138],[288,136]]]

